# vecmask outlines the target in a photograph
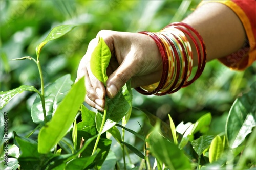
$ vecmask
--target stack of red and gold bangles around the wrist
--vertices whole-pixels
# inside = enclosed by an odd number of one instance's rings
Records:
[[[206,63],[205,45],[200,34],[191,26],[183,22],[175,22],[160,32],[143,31],[139,33],[150,36],[156,42],[162,56],[163,73],[160,82],[137,87],[138,92],[144,95],[174,93],[181,87],[193,83],[202,74]],[[193,67],[193,53],[185,34],[193,41],[198,55],[198,68],[192,79],[190,75]]]

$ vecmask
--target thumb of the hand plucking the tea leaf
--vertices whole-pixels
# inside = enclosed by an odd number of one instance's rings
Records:
[[[114,98],[124,84],[135,75],[132,66],[125,66],[123,63],[109,76],[108,81],[106,81],[106,94],[109,98]]]

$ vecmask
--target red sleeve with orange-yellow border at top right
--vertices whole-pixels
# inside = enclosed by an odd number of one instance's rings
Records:
[[[247,45],[236,53],[219,60],[232,69],[246,69],[256,60],[256,0],[203,1],[200,5],[209,2],[228,6],[243,23],[247,35]]]

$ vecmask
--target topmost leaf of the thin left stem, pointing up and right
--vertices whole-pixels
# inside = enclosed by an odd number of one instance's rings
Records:
[[[35,49],[37,58],[39,58],[42,47],[44,47],[47,42],[62,37],[63,35],[67,34],[75,27],[77,27],[77,25],[60,25],[60,26],[54,27],[51,30],[51,32],[48,34],[48,36],[44,39],[44,41],[42,41],[39,45],[37,45]]]

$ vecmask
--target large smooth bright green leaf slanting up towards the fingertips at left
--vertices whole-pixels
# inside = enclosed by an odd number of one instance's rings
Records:
[[[55,115],[38,134],[38,152],[48,153],[71,127],[77,111],[84,100],[84,78],[80,79],[68,92],[56,109]],[[45,142],[47,141],[47,142]]]

